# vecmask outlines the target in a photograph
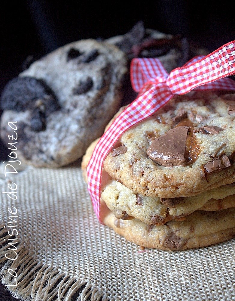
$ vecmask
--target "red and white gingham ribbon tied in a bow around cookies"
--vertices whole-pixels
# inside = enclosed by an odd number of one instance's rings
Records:
[[[100,222],[100,188],[103,162],[113,145],[131,126],[151,116],[175,94],[195,90],[235,90],[235,41],[211,54],[195,57],[168,74],[157,58],[134,58],[130,66],[133,89],[138,97],[111,123],[99,139],[87,166],[88,191]]]

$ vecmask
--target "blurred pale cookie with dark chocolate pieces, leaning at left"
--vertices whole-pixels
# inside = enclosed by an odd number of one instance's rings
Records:
[[[18,156],[37,167],[80,158],[120,107],[126,54],[94,39],[72,42],[35,61],[1,95],[1,138],[17,121]]]

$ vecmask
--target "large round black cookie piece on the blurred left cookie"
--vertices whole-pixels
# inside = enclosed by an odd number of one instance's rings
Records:
[[[45,107],[46,115],[59,109],[55,95],[43,80],[18,76],[5,86],[1,95],[1,108],[17,112],[33,110],[39,99]]]

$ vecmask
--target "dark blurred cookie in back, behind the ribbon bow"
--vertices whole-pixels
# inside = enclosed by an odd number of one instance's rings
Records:
[[[158,57],[165,69],[181,67],[191,57],[209,54],[208,50],[200,49],[181,35],[161,33],[145,27],[142,20],[138,21],[127,33],[105,40],[116,45],[127,54],[129,61],[133,57]]]

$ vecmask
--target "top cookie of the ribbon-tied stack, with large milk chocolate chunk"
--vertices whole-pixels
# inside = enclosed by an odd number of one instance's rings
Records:
[[[104,161],[135,193],[189,197],[235,182],[235,94],[190,92],[133,126]]]

